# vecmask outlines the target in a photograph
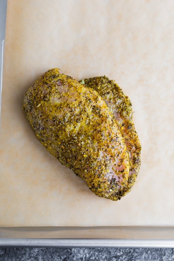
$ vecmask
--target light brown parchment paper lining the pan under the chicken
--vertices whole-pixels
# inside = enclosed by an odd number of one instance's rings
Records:
[[[0,226],[173,226],[172,1],[8,1],[0,133]],[[40,144],[23,96],[58,67],[107,75],[133,104],[142,166],[119,202],[95,196]]]

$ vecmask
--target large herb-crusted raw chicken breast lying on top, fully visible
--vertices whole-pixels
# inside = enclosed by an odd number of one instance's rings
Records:
[[[121,198],[128,184],[129,153],[95,90],[55,68],[29,88],[23,110],[40,142],[91,191],[111,200]]]

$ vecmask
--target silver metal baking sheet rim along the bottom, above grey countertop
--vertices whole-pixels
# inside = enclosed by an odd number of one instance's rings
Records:
[[[0,246],[173,248],[174,227],[2,227]]]

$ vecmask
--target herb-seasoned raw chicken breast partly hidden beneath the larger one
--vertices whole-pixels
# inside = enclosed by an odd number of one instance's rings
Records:
[[[125,183],[124,189],[121,188],[117,193],[123,196],[133,186],[141,164],[141,144],[132,119],[131,101],[128,96],[124,95],[123,90],[118,84],[106,76],[83,79],[79,82],[85,84],[88,88],[96,90],[104,99],[126,143],[130,166],[128,183]]]

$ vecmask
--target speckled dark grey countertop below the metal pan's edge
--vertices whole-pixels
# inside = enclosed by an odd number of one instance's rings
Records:
[[[171,248],[0,248],[0,260],[113,260],[172,261]]]

